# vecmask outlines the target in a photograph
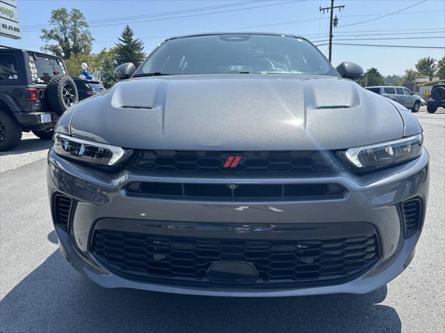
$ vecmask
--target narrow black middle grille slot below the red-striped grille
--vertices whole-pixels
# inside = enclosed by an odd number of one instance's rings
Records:
[[[337,184],[189,184],[180,182],[131,182],[128,194],[146,197],[206,198],[230,200],[343,198],[345,189]]]

